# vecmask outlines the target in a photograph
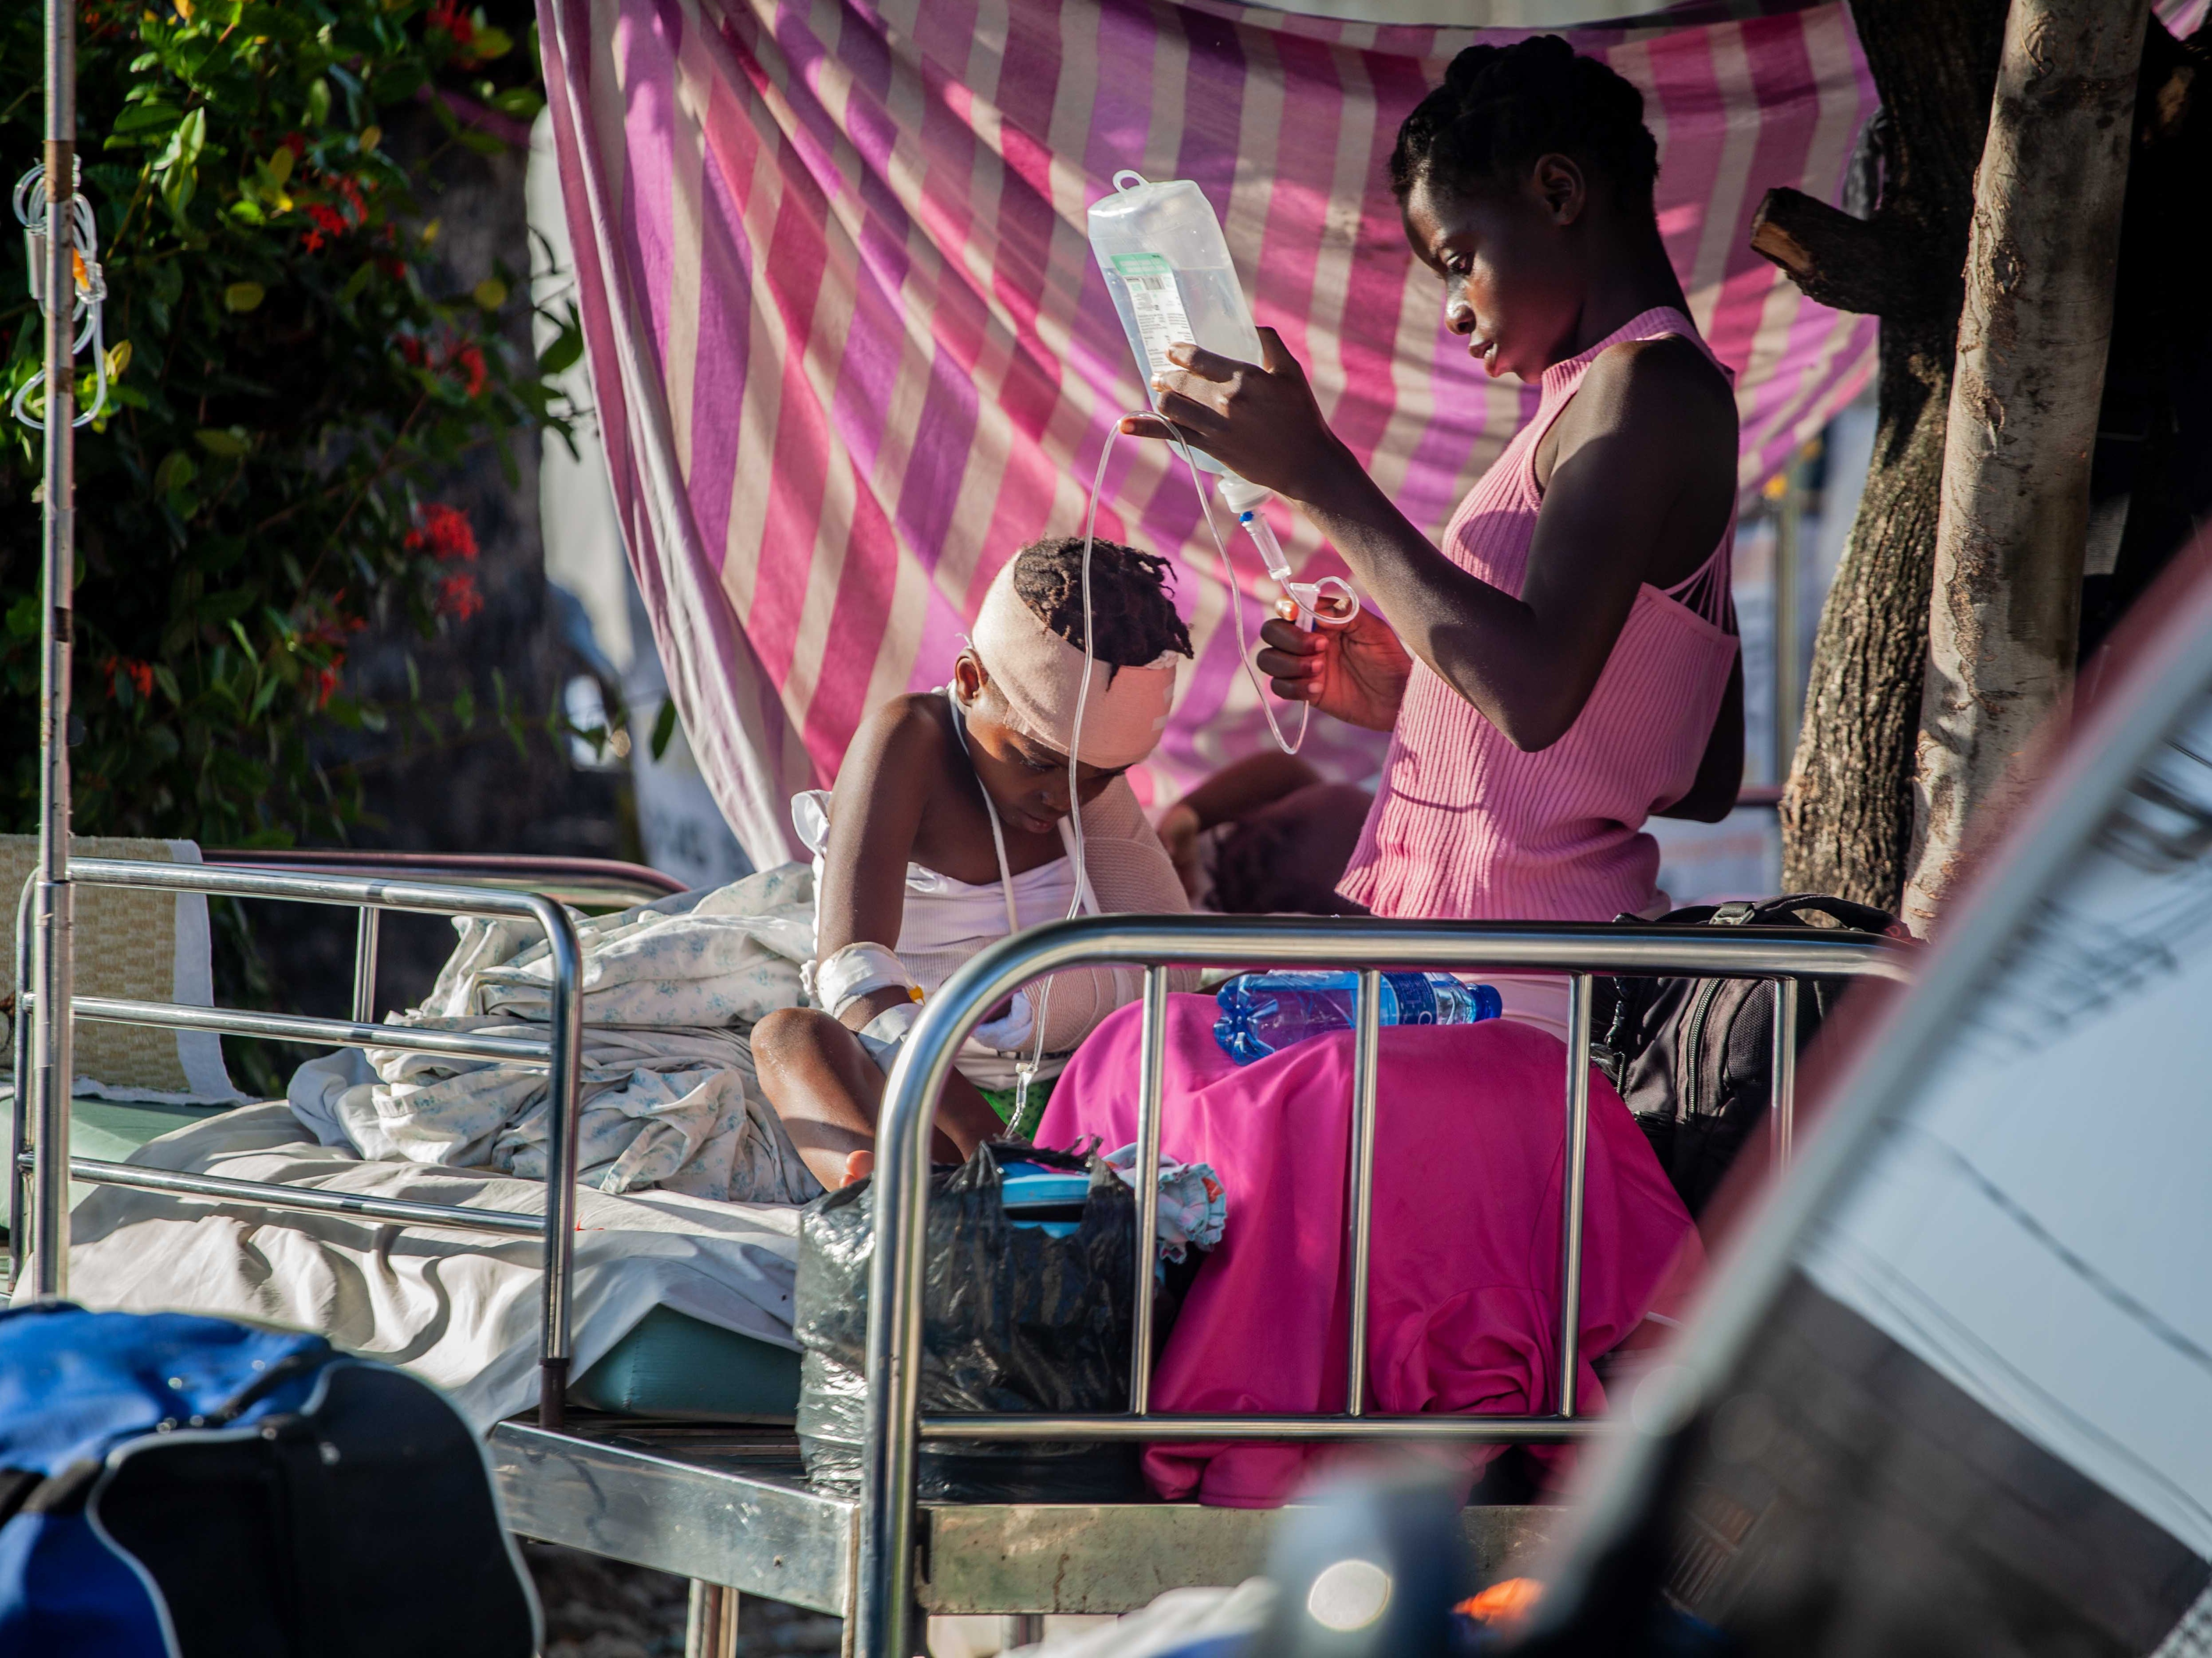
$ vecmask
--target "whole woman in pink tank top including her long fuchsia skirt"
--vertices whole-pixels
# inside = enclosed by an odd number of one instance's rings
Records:
[[[1460,504],[1442,548],[1323,424],[1298,365],[1183,347],[1161,413],[1301,502],[1376,599],[1352,628],[1265,628],[1283,696],[1391,730],[1343,891],[1385,915],[1610,920],[1657,900],[1657,809],[1721,816],[1743,760],[1728,537],[1736,411],[1683,316],[1652,219],[1644,99],[1555,38],[1475,46],[1398,135],[1405,230],[1491,374],[1542,382],[1537,418]],[[1130,422],[1164,436],[1161,420]],[[1489,977],[1489,975],[1486,975]],[[1515,1019],[1387,1030],[1365,1373],[1380,1413],[1544,1413],[1557,1399],[1564,1132],[1551,986]],[[1542,990],[1551,988],[1553,997]],[[1533,995],[1531,995],[1533,993]],[[1141,1021],[1075,1057],[1037,1141],[1121,1145]],[[1212,1163],[1230,1222],[1161,1355],[1159,1410],[1340,1410],[1349,1035],[1234,1066],[1208,997],[1170,997],[1170,1156]],[[1590,1079],[1577,1408],[1590,1360],[1697,1234],[1635,1121]],[[1482,1452],[1471,1452],[1480,1457]],[[1152,1446],[1166,1497],[1272,1503],[1301,1446]]]

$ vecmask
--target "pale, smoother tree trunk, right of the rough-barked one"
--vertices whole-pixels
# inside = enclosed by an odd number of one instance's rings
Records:
[[[2088,471],[2112,338],[2148,0],[2013,0],[1975,177],[1944,436],[1905,922],[1927,935],[1969,831],[2039,780],[2073,703]]]

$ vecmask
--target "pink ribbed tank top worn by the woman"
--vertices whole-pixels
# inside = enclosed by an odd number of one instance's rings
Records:
[[[1659,307],[1544,369],[1535,418],[1451,515],[1444,557],[1517,595],[1542,508],[1537,444],[1599,351],[1668,334],[1712,356],[1688,316]],[[1608,922],[1648,909],[1659,842],[1644,820],[1697,780],[1736,661],[1734,535],[1730,517],[1712,557],[1674,588],[1644,584],[1590,701],[1537,754],[1416,661],[1338,891],[1376,915]]]

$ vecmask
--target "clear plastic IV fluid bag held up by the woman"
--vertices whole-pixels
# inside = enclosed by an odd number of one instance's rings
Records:
[[[1168,347],[1177,340],[1259,363],[1259,332],[1221,221],[1190,179],[1148,183],[1137,172],[1117,172],[1115,195],[1091,206],[1091,252],[1137,354],[1146,400],[1152,376],[1175,367]],[[1223,471],[1212,455],[1190,453],[1206,471]]]

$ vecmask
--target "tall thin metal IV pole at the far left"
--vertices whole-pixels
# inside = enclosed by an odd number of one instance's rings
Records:
[[[38,718],[38,1024],[31,1088],[38,1108],[38,1192],[31,1247],[40,1300],[69,1295],[69,1092],[73,1041],[73,893],[69,886],[69,659],[75,581],[75,267],[77,192],[75,0],[46,0],[46,604],[40,610],[44,685]],[[22,1178],[15,1169],[11,1178]]]

